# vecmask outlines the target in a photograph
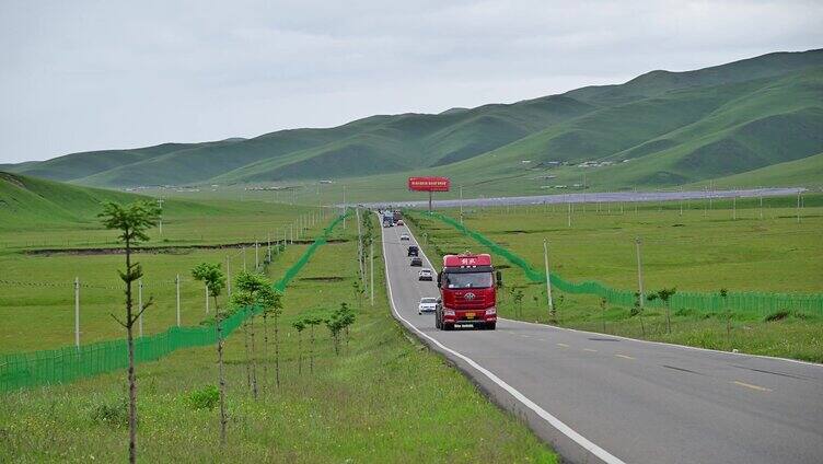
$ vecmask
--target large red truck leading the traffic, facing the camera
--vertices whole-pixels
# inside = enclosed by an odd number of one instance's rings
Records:
[[[497,325],[497,287],[502,285],[500,271],[491,266],[488,254],[443,256],[443,270],[438,274],[440,301],[434,310],[434,326],[451,330],[455,325],[495,329]]]

